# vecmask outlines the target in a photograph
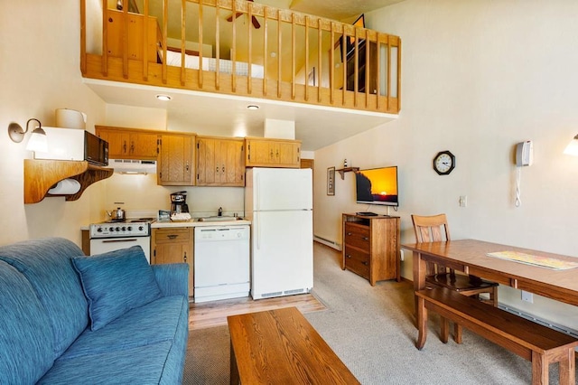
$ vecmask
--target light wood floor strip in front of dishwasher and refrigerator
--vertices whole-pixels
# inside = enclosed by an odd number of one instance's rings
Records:
[[[276,298],[259,299],[251,297],[226,299],[200,304],[191,304],[189,312],[189,330],[227,324],[228,315],[262,312],[281,307],[295,306],[303,314],[325,310],[326,307],[311,294],[297,296],[280,296]]]

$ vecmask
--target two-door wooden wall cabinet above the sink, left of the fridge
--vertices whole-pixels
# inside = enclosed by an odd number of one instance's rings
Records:
[[[245,186],[244,139],[197,136],[198,186]]]

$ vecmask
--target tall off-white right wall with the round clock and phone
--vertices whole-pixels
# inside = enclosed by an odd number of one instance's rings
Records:
[[[578,257],[578,157],[562,154],[578,133],[577,17],[570,0],[406,0],[366,14],[368,28],[402,39],[402,111],[316,151],[315,183],[324,185],[326,168],[340,168],[343,158],[360,167],[396,164],[402,242],[415,241],[410,214],[445,212],[452,239]],[[535,163],[522,169],[517,208],[513,151],[526,139],[534,141]],[[433,172],[441,150],[457,158],[448,176]],[[468,196],[465,208],[460,195]],[[355,204],[346,174],[335,196],[316,190],[315,208],[315,234],[340,243],[340,213],[367,206]],[[406,258],[403,276],[412,279],[411,271]],[[574,306],[537,296],[527,305],[507,287],[499,299],[578,329]]]

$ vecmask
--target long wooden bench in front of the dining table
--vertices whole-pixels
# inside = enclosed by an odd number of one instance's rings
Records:
[[[547,385],[549,364],[559,362],[560,384],[574,385],[574,348],[578,346],[578,340],[572,336],[443,287],[419,290],[415,296],[419,329],[417,349],[424,347],[427,311],[432,310],[442,316],[440,339],[443,343],[448,341],[448,320],[452,320],[532,362],[533,384]]]

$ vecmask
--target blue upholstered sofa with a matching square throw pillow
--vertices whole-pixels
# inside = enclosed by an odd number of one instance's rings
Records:
[[[0,247],[1,384],[180,384],[188,265],[67,239]]]

